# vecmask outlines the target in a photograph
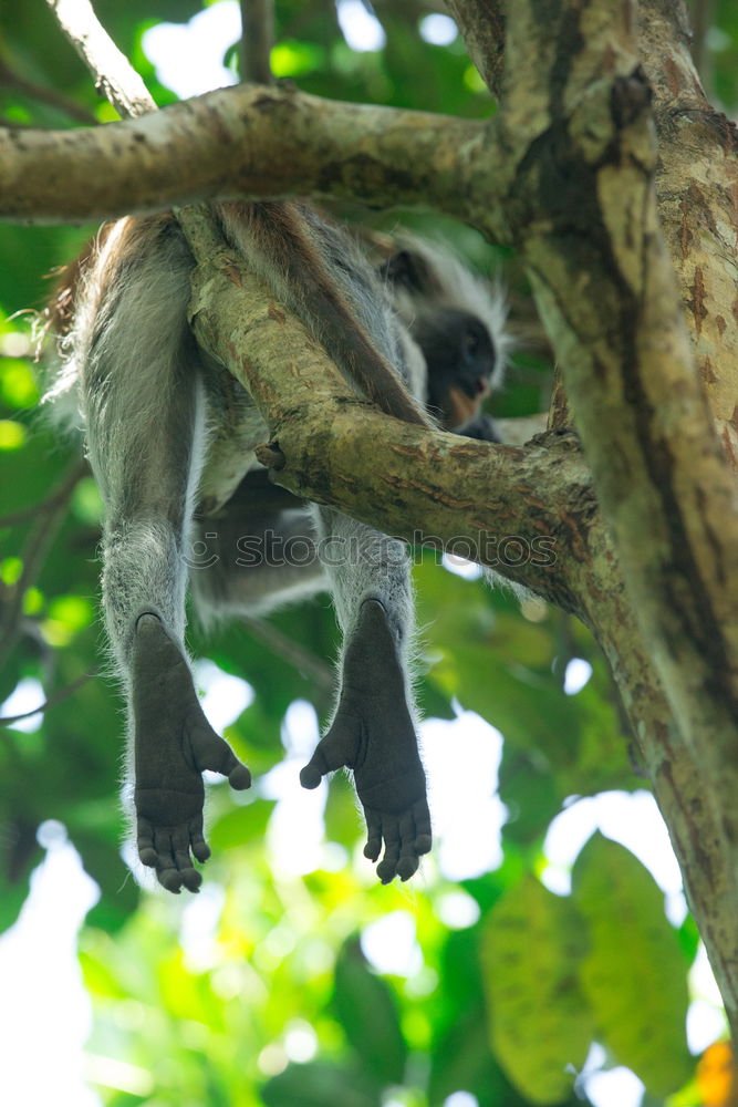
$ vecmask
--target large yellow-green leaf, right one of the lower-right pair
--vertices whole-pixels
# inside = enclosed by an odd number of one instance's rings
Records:
[[[686,963],[663,893],[628,850],[597,834],[574,866],[573,899],[590,931],[581,982],[597,1035],[662,1098],[693,1068]]]

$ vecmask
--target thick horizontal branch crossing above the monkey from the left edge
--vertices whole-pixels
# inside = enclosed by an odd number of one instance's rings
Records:
[[[0,219],[79,223],[310,195],[430,205],[474,221],[490,208],[491,127],[238,85],[94,128],[3,128]]]

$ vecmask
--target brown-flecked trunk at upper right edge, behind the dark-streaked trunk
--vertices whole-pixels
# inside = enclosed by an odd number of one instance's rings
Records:
[[[658,214],[708,403],[738,473],[738,128],[705,97],[684,4],[646,0],[638,10],[655,92]]]

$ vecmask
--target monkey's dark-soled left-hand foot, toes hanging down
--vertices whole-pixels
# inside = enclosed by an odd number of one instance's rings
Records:
[[[153,612],[136,623],[132,703],[138,857],[167,891],[196,892],[202,877],[190,853],[198,861],[210,856],[201,774],[222,773],[238,790],[251,774],[202,714],[189,665]]]

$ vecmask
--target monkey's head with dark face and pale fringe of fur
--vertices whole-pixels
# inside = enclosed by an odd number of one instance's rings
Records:
[[[416,240],[385,262],[383,275],[423,354],[428,410],[445,430],[464,432],[502,383],[503,297],[453,255]]]

